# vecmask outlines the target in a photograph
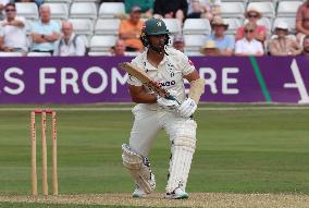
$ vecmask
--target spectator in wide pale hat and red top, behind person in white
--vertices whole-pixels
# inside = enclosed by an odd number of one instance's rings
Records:
[[[258,25],[258,20],[262,17],[262,14],[255,8],[249,8],[245,12],[245,17],[248,20],[248,23],[256,25],[255,39],[264,42],[267,38],[267,27],[263,25]],[[245,37],[245,27],[242,26],[237,29],[235,38],[239,40]]]

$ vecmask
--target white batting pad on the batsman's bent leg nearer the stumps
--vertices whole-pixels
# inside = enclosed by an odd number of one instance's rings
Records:
[[[156,188],[156,179],[150,169],[148,158],[133,151],[127,144],[122,145],[122,160],[125,168],[128,169],[135,183],[147,194]]]

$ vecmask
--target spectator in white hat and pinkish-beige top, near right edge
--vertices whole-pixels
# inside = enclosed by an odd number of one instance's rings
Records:
[[[301,52],[301,47],[287,36],[288,26],[285,22],[279,21],[275,26],[275,35],[269,44],[269,51],[272,56],[297,56]]]

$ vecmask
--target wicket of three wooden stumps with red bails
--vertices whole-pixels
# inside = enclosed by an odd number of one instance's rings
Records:
[[[38,195],[37,185],[37,151],[36,151],[36,114],[41,114],[41,178],[42,194],[48,196],[47,178],[47,114],[51,114],[52,129],[52,194],[58,195],[58,174],[57,174],[57,119],[55,112],[51,110],[35,110],[30,113],[30,137],[32,137],[32,192],[34,196]]]

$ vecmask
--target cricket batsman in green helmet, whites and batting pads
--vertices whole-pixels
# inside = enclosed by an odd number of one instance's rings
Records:
[[[134,197],[146,197],[153,192],[156,180],[147,157],[158,131],[163,129],[171,144],[165,198],[188,198],[186,184],[196,148],[197,127],[191,115],[203,93],[205,79],[183,52],[168,46],[169,30],[162,20],[149,19],[140,39],[146,50],[132,64],[144,70],[157,86],[165,88],[175,99],[156,95],[129,75],[128,90],[137,105],[132,110],[135,121],[129,144],[122,146],[123,164],[135,181]],[[184,78],[190,83],[188,97],[185,95]]]

